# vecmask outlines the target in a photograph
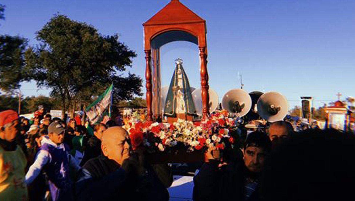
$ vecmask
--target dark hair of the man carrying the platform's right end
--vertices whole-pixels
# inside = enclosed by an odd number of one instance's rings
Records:
[[[244,142],[244,150],[249,146],[261,147],[265,151],[270,152],[272,144],[266,133],[254,131],[246,137]]]

